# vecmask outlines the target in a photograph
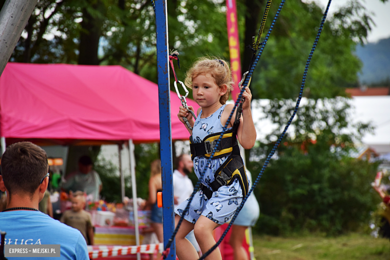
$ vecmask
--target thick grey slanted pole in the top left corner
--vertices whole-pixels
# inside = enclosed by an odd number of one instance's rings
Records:
[[[0,75],[38,0],[6,0],[0,11]]]

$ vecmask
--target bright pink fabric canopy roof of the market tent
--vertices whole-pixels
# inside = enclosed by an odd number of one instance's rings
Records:
[[[173,139],[189,136],[177,118],[180,104],[171,92]],[[9,62],[0,77],[0,115],[7,140],[159,139],[157,84],[117,65]]]

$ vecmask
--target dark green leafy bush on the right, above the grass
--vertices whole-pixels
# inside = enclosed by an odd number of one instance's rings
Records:
[[[370,186],[377,164],[351,157],[354,142],[371,127],[351,123],[343,98],[306,101],[254,190],[261,208],[259,232],[357,230],[368,224],[378,202]],[[283,126],[293,108],[292,100],[271,100],[265,112]],[[260,170],[264,159],[259,158],[269,153],[280,132],[277,127],[267,136],[269,144],[251,150],[252,173]]]

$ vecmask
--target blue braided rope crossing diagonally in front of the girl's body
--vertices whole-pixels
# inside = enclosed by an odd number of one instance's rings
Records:
[[[258,61],[258,59],[259,59],[260,56],[261,56],[261,53],[262,53],[262,51],[263,51],[263,49],[264,49],[264,46],[265,46],[265,44],[266,44],[266,42],[267,42],[267,40],[268,40],[268,38],[269,38],[269,35],[270,35],[270,33],[271,33],[272,29],[273,29],[273,26],[274,26],[274,24],[275,24],[275,22],[276,22],[276,19],[277,19],[277,17],[279,16],[280,10],[281,10],[281,8],[283,7],[284,2],[285,2],[285,0],[282,0],[282,1],[281,1],[280,5],[279,5],[279,8],[278,8],[277,11],[276,11],[275,17],[274,17],[273,20],[272,20],[272,23],[271,23],[271,25],[270,25],[270,27],[269,27],[269,30],[268,30],[268,32],[267,32],[267,34],[266,34],[266,36],[265,36],[264,41],[263,41],[263,44],[261,45],[260,51],[259,51],[258,55],[256,56],[255,64],[257,64],[257,61]],[[169,248],[169,247],[170,247],[170,244],[171,244],[171,242],[172,242],[174,236],[176,235],[177,230],[178,230],[178,228],[179,228],[180,225],[181,225],[181,222],[182,222],[183,219],[184,219],[185,213],[189,210],[189,205],[190,205],[190,203],[191,203],[191,201],[192,201],[192,199],[193,199],[193,196],[195,195],[195,193],[197,192],[197,190],[198,190],[198,188],[199,188],[199,186],[200,186],[200,180],[203,178],[203,176],[204,176],[204,174],[205,174],[205,169],[206,169],[206,168],[208,167],[208,165],[211,163],[211,159],[212,159],[212,157],[214,156],[214,153],[215,153],[215,151],[216,151],[216,147],[219,145],[219,142],[220,142],[221,139],[222,139],[222,135],[223,135],[224,132],[226,131],[227,125],[229,124],[229,122],[230,122],[230,120],[231,120],[231,117],[233,116],[234,110],[235,110],[235,108],[237,107],[239,101],[241,100],[242,93],[243,93],[243,91],[245,90],[245,87],[247,86],[247,84],[248,84],[248,82],[249,82],[249,78],[251,77],[251,75],[252,75],[252,73],[253,73],[255,64],[254,64],[254,66],[252,66],[251,69],[249,70],[249,73],[248,73],[248,75],[246,76],[246,78],[245,78],[245,80],[244,80],[244,82],[243,82],[243,84],[242,84],[241,91],[240,91],[240,93],[238,94],[237,100],[236,100],[235,103],[234,103],[234,107],[233,107],[233,109],[231,110],[231,112],[230,112],[230,114],[229,114],[229,117],[228,117],[228,119],[227,119],[227,121],[226,121],[226,123],[225,123],[225,125],[224,125],[224,127],[223,127],[223,129],[222,129],[222,132],[221,132],[221,134],[219,135],[219,138],[218,138],[217,141],[216,141],[216,145],[215,145],[214,149],[212,150],[212,152],[211,152],[211,154],[210,154],[210,157],[207,159],[206,166],[204,167],[203,171],[200,173],[199,179],[198,179],[198,181],[196,182],[196,185],[195,185],[195,187],[194,187],[194,189],[193,189],[193,192],[192,192],[191,196],[190,196],[189,199],[188,199],[188,203],[187,203],[186,207],[184,208],[184,210],[183,210],[183,212],[182,212],[182,214],[181,214],[181,216],[180,216],[180,220],[178,221],[178,223],[177,223],[177,225],[176,225],[176,228],[174,229],[174,231],[173,231],[173,233],[172,233],[172,236],[169,238],[168,243],[166,244],[166,246],[165,246],[165,248],[164,248],[165,250],[166,250],[166,248]],[[220,243],[220,242],[219,242],[219,243]],[[218,243],[218,244],[219,244],[219,243]],[[207,251],[208,254],[209,254],[213,249],[215,249],[215,247],[218,246],[218,244],[214,245],[209,251]],[[207,255],[208,255],[208,254],[207,254]],[[205,255],[205,254],[203,254],[202,257],[200,257],[200,259],[203,259],[203,258],[205,257],[204,255]]]

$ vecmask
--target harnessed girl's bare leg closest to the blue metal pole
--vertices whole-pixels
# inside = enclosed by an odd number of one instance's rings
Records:
[[[180,220],[179,215],[174,216],[175,226]],[[176,233],[176,255],[179,260],[197,260],[199,258],[195,247],[185,236],[193,229],[193,224],[185,219],[180,224]]]

